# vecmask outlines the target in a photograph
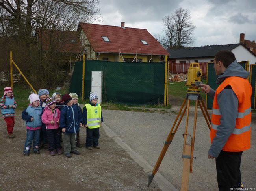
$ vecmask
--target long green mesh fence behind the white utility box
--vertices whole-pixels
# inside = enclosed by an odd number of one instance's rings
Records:
[[[69,92],[82,96],[83,62],[76,62]],[[91,92],[91,71],[103,72],[102,100],[125,104],[157,104],[164,100],[165,62],[85,60],[85,99]]]

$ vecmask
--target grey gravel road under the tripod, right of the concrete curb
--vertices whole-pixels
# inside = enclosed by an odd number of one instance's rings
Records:
[[[169,110],[171,111],[171,110]],[[193,112],[191,112],[191,115]],[[154,166],[160,155],[176,113],[145,113],[132,111],[104,110],[104,122],[135,152],[141,155],[151,166]],[[174,136],[173,142],[159,168],[160,173],[177,189],[180,189],[182,176],[182,146],[185,116]],[[245,187],[256,187],[256,115],[252,117],[251,149],[244,151],[241,161],[241,175]],[[193,128],[193,117],[189,118],[189,133]],[[192,134],[191,134],[192,135]],[[210,147],[209,129],[201,111],[198,111],[193,173],[189,178],[189,190],[217,191],[215,160],[208,159]]]

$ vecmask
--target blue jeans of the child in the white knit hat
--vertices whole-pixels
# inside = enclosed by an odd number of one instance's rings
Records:
[[[40,138],[41,129],[29,130],[27,129],[27,138],[24,147],[24,153],[30,153],[30,147],[33,141],[33,150],[38,151],[38,142]]]

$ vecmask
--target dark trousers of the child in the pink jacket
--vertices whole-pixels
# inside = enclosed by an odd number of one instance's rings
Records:
[[[49,141],[49,151],[60,149],[60,131],[58,129],[46,129]]]

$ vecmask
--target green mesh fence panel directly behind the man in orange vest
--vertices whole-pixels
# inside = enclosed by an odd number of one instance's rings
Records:
[[[238,62],[243,68],[245,68],[246,62]],[[210,85],[212,89],[217,89],[219,84],[216,84],[217,75],[215,74],[215,70],[213,68],[214,63],[209,62],[207,65],[207,84]],[[211,99],[208,95],[206,96],[206,106],[207,109],[212,109],[213,99]]]

